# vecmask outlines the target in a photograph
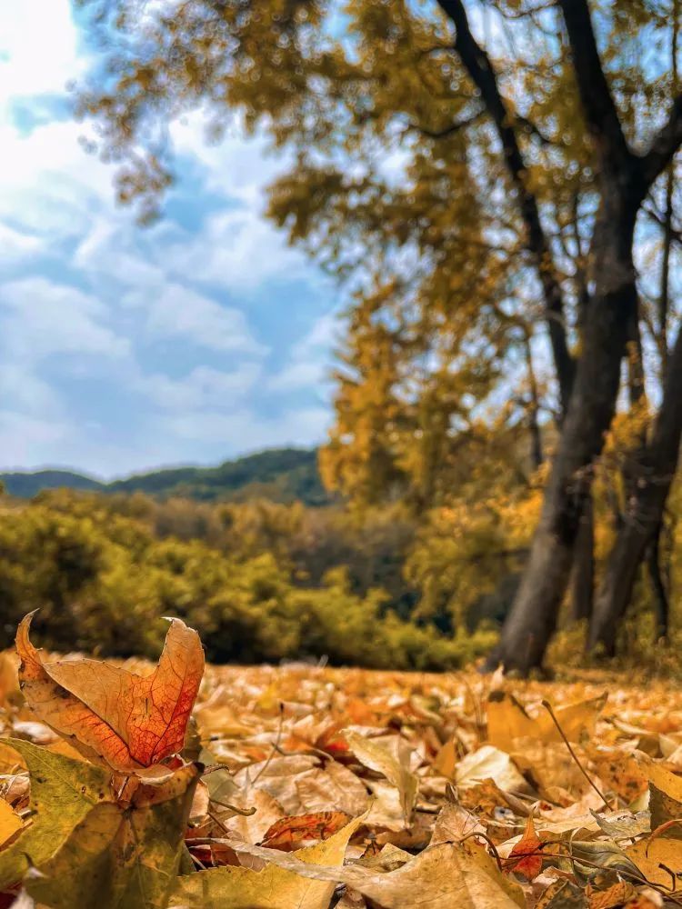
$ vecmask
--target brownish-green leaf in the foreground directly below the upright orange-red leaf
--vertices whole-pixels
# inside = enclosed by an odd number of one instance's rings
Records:
[[[140,786],[128,807],[95,805],[27,878],[28,893],[51,909],[165,909],[199,771],[188,764],[164,784]]]

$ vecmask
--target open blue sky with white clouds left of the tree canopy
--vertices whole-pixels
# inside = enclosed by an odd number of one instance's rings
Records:
[[[321,441],[340,300],[263,215],[286,161],[236,128],[207,145],[190,116],[165,216],[139,227],[79,142],[66,85],[87,67],[69,0],[0,4],[0,469]]]

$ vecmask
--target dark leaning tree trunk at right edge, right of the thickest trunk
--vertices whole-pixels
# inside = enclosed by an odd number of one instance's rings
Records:
[[[663,521],[667,494],[675,477],[682,438],[682,329],[668,361],[663,400],[650,443],[645,449],[637,489],[609,558],[597,595],[588,646],[616,650],[617,626],[625,614],[637,568]]]

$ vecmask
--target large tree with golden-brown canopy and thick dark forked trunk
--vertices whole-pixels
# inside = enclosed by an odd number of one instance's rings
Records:
[[[218,131],[237,109],[293,149],[270,215],[358,287],[332,451],[361,465],[360,488],[381,464],[377,484],[421,476],[428,504],[544,320],[561,432],[496,654],[540,664],[637,335],[637,218],[682,142],[682,97],[633,54],[667,34],[670,3],[351,0],[339,19],[331,0],[82,2],[105,37],[82,109],[143,217],[171,179],[165,125],[188,108]],[[362,333],[390,352],[371,368]]]

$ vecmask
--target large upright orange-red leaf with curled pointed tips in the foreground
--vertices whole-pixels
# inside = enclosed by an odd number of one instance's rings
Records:
[[[198,634],[173,619],[154,672],[137,675],[99,660],[47,663],[31,644],[33,613],[19,624],[16,651],[27,703],[87,757],[130,773],[180,751],[204,674]]]

